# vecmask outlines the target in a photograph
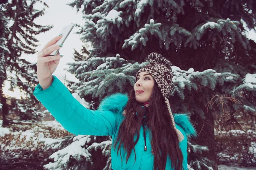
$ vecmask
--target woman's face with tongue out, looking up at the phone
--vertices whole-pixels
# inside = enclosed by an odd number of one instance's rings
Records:
[[[154,79],[147,72],[140,72],[134,85],[135,98],[137,102],[148,102],[154,87]]]

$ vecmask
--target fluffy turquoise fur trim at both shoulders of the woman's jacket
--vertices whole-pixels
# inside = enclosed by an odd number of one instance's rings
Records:
[[[114,113],[120,113],[125,110],[125,106],[128,102],[127,94],[113,94],[111,96],[105,97],[99,105],[98,109],[102,110],[110,110]],[[187,114],[173,114],[174,121],[177,125],[179,125],[186,133],[187,136],[195,137],[197,135],[195,128],[191,124],[189,120],[189,116]]]

